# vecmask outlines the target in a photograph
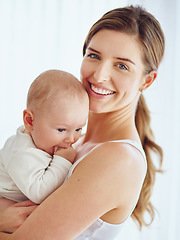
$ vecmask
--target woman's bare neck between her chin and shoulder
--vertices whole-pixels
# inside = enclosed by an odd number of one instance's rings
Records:
[[[89,113],[84,142],[100,143],[118,139],[138,138],[135,109],[121,109],[109,113]]]

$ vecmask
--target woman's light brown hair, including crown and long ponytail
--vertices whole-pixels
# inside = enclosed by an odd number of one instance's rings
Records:
[[[165,40],[160,24],[152,14],[140,6],[117,8],[107,12],[90,29],[84,43],[83,55],[85,55],[92,37],[102,29],[120,31],[135,36],[143,55],[144,73],[147,74],[152,70],[158,69],[164,54]],[[155,212],[150,202],[150,197],[156,172],[161,169],[163,156],[161,147],[154,142],[150,126],[150,114],[142,94],[137,105],[135,123],[146,153],[148,165],[141,194],[136,208],[132,213],[132,218],[138,223],[141,229],[142,225],[149,225],[154,219]],[[153,162],[152,153],[155,153],[159,159],[158,168],[156,168]],[[148,212],[150,215],[150,223],[145,221],[145,212]]]

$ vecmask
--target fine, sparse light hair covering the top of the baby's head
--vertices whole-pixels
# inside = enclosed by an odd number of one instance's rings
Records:
[[[72,74],[62,70],[47,70],[31,84],[27,95],[27,108],[41,108],[56,97],[80,100],[88,98],[82,83]]]

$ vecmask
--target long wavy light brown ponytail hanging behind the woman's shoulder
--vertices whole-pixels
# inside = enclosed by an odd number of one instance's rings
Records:
[[[155,183],[156,173],[162,172],[161,166],[163,152],[161,147],[154,142],[154,135],[150,127],[150,122],[150,113],[145,99],[141,94],[136,110],[135,123],[147,158],[147,174],[141,190],[139,201],[132,213],[132,218],[138,223],[140,229],[142,228],[142,225],[148,226],[154,220],[155,210],[154,206],[150,202],[150,197]],[[158,157],[158,167],[155,166],[152,155],[153,157],[155,157],[155,155]],[[147,223],[144,219],[145,211],[147,211],[150,215],[151,221],[149,223]]]

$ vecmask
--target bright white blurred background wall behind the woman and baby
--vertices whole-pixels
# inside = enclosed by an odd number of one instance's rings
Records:
[[[0,0],[0,148],[22,124],[30,83],[58,68],[79,77],[82,45],[90,26],[106,11],[140,4],[160,21],[166,52],[156,83],[145,92],[157,142],[164,149],[163,175],[153,202],[154,224],[137,231],[130,220],[120,239],[180,239],[180,2],[178,0]]]

